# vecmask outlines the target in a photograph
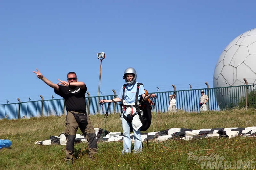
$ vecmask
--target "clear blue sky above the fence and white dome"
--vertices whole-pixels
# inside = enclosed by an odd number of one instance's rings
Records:
[[[95,0],[0,2],[0,104],[60,98],[49,80],[77,73],[91,96],[113,95],[127,67],[149,92],[212,87],[219,55],[256,28],[256,1]]]

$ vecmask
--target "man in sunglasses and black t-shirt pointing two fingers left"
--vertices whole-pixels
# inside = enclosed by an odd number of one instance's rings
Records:
[[[52,83],[45,78],[37,69],[33,71],[37,78],[41,79],[48,86],[54,89],[54,92],[64,98],[67,116],[65,135],[67,139],[65,160],[73,162],[74,142],[78,127],[82,133],[87,136],[88,150],[90,159],[94,159],[97,153],[96,134],[92,126],[89,115],[86,114],[85,93],[87,87],[84,82],[78,82],[75,72],[69,72],[67,81],[61,81],[58,84]]]

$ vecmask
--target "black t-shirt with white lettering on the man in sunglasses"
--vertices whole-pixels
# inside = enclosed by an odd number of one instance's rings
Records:
[[[85,104],[85,92],[87,87],[85,85],[85,89],[81,89],[80,87],[66,87],[62,85],[59,86],[59,91],[54,90],[54,93],[60,95],[64,98],[67,111],[76,111],[85,113],[86,112],[86,104]]]

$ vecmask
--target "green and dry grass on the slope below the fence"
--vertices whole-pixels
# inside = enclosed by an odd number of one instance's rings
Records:
[[[204,113],[154,113],[147,132],[169,128],[218,128],[255,126],[256,110],[227,110]],[[122,132],[119,114],[90,115],[93,126]],[[122,142],[98,143],[95,160],[87,158],[87,143],[75,144],[75,160],[64,161],[65,145],[38,145],[36,141],[49,139],[64,132],[65,115],[20,120],[0,120],[0,139],[12,141],[10,148],[0,150],[0,169],[201,169],[200,158],[217,155],[223,160],[255,161],[256,143],[251,137],[206,138],[198,140],[168,140],[144,142],[141,154],[122,155]],[[80,130],[78,133],[81,133]],[[190,157],[189,155],[194,155]],[[190,160],[188,160],[190,159]],[[211,160],[210,163],[214,161]],[[254,164],[250,168],[254,168]],[[228,166],[227,166],[228,167]],[[206,169],[207,166],[203,166]],[[212,167],[211,167],[212,168]],[[230,169],[230,167],[228,167]],[[241,167],[246,168],[246,166]],[[209,166],[208,166],[209,169]]]

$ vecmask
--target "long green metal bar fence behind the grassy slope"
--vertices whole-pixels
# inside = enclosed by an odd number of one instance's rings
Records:
[[[178,90],[155,92],[157,98],[154,100],[155,112],[168,111],[169,95],[176,94],[176,108],[187,112],[199,112],[201,90],[209,97],[207,102],[208,110],[222,110],[229,108],[255,108],[256,95],[255,85],[241,85],[218,88],[203,88],[193,90]],[[100,99],[113,99],[117,95],[94,96],[87,92],[86,106],[87,113],[91,115],[105,114],[107,105],[100,105]],[[1,119],[20,119],[41,116],[60,116],[66,114],[66,107],[63,99],[51,99],[29,102],[18,102],[0,105]],[[218,102],[217,102],[218,98]],[[120,105],[112,103],[109,113],[120,113]]]

